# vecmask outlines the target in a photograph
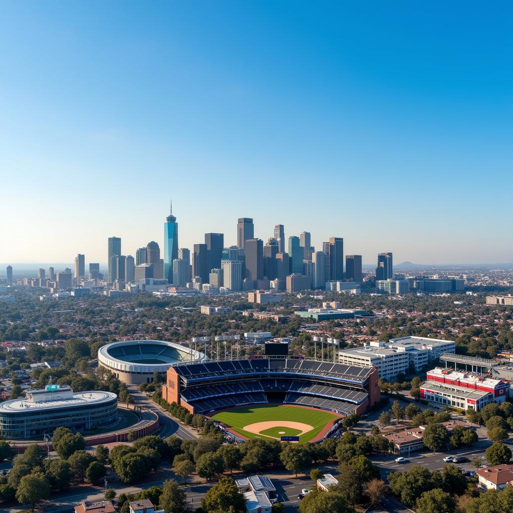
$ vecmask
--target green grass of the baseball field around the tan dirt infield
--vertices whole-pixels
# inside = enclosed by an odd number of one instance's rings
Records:
[[[301,431],[290,427],[281,427],[279,424],[274,427],[264,429],[258,435],[245,431],[243,428],[250,424],[266,421],[278,423],[279,421],[301,422],[312,426],[310,431],[303,433],[303,435],[299,437],[300,442],[308,442],[318,435],[328,422],[336,419],[337,416],[327,411],[282,404],[277,406],[246,406],[236,410],[221,411],[216,413],[212,418],[226,424],[233,429],[233,431],[246,438],[280,438],[282,436],[297,436]],[[280,434],[280,431],[284,431],[285,434]]]

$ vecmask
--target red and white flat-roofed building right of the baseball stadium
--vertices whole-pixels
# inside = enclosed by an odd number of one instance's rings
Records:
[[[479,411],[489,403],[500,404],[509,392],[509,383],[484,374],[437,367],[427,372],[420,397],[440,406]]]

